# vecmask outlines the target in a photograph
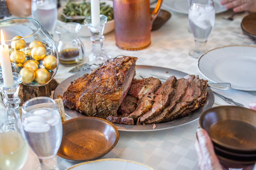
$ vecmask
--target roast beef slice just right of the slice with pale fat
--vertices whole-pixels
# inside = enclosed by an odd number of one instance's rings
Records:
[[[137,123],[145,123],[148,119],[160,115],[160,113],[170,104],[170,99],[174,94],[174,84],[176,77],[169,77],[166,82],[156,91],[152,109],[138,118]]]

